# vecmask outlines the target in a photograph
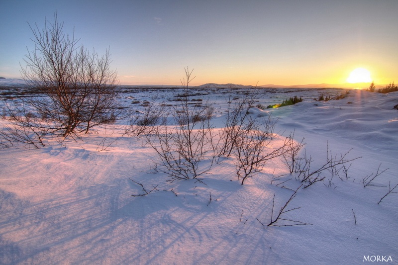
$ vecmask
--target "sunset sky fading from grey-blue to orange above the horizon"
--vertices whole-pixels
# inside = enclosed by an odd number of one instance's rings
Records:
[[[0,76],[20,78],[29,25],[57,11],[124,85],[398,83],[397,0],[2,0]]]

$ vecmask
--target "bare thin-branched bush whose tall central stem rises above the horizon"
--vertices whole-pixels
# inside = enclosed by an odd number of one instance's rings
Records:
[[[152,134],[145,135],[170,181],[192,178],[200,181],[198,177],[208,172],[214,162],[211,124],[208,119],[197,118],[211,116],[212,108],[207,103],[201,106],[188,103],[192,72],[185,69],[186,78],[181,81],[185,92],[174,107],[175,125],[159,125]]]

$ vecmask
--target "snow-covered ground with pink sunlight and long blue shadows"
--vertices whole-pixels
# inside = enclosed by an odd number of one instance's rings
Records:
[[[178,93],[133,90],[119,100],[137,109]],[[309,225],[267,226],[274,194],[275,218],[301,184],[280,158],[244,185],[232,159],[214,164],[201,177],[205,184],[170,183],[154,167],[156,152],[144,138],[122,136],[121,122],[77,141],[49,139],[38,150],[0,149],[0,264],[362,264],[368,256],[398,264],[398,194],[378,204],[389,182],[398,184],[398,92],[313,100],[344,91],[264,89],[259,97],[262,105],[304,98],[265,111],[278,118],[282,139],[293,131],[298,142],[304,138],[314,169],[326,163],[327,149],[361,157],[346,165],[347,176],[324,171],[324,181],[298,189],[286,210],[300,208],[283,218]],[[194,98],[214,102],[213,122],[222,126],[226,99],[241,92],[197,89]],[[267,118],[258,108],[251,113]],[[364,187],[379,167],[387,170]],[[156,189],[131,196],[143,190],[130,179]]]

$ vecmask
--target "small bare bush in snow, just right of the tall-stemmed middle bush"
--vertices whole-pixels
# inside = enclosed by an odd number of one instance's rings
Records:
[[[274,148],[271,145],[275,124],[276,119],[268,117],[263,124],[264,130],[260,130],[258,122],[250,120],[242,133],[235,137],[232,152],[236,157],[234,164],[242,185],[248,177],[261,172],[267,161],[282,155],[284,146]]]

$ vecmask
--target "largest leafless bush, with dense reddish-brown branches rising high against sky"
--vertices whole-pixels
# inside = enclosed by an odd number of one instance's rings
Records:
[[[115,98],[117,74],[110,70],[108,51],[99,56],[79,46],[74,34],[70,37],[63,32],[63,23],[58,23],[56,13],[53,23],[45,21],[44,29],[37,25],[30,29],[35,49],[25,55],[26,67],[21,73],[27,85],[40,96],[23,97],[21,107],[8,108],[6,115],[14,126],[11,131],[19,130],[22,134],[13,133],[5,138],[42,144],[39,139],[47,134],[66,137],[88,133],[94,126],[124,116],[126,110]],[[8,131],[3,131],[3,136]]]

